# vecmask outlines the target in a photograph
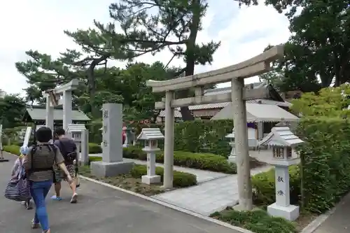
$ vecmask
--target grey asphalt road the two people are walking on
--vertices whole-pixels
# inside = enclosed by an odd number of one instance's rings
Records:
[[[0,162],[2,190],[6,187],[15,160],[11,155],[5,156],[11,161]],[[238,233],[207,220],[88,181],[82,181],[78,191],[78,204],[69,204],[70,193],[66,185],[62,192],[64,200],[46,201],[52,233]],[[1,232],[32,232],[29,227],[33,216],[33,210],[27,211],[19,203],[0,196]]]

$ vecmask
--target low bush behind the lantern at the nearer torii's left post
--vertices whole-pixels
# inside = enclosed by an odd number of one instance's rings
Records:
[[[131,171],[131,175],[134,178],[140,178],[147,174],[147,167],[144,165],[135,164]],[[162,167],[155,168],[155,174],[161,177],[163,181],[164,169]],[[186,172],[174,171],[174,187],[184,188],[191,185],[197,184],[197,177],[193,174],[188,174]]]

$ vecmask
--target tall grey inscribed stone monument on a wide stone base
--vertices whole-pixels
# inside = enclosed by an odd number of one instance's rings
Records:
[[[127,174],[134,163],[123,161],[123,105],[104,104],[102,118],[102,161],[91,162],[91,172],[97,177]]]

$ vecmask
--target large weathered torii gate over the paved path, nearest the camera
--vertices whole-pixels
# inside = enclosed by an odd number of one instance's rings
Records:
[[[246,125],[246,100],[267,99],[266,88],[244,88],[244,78],[258,76],[271,70],[270,63],[283,57],[283,45],[276,45],[260,55],[222,69],[198,73],[193,76],[174,78],[172,80],[148,80],[146,85],[153,92],[165,92],[165,98],[155,103],[156,109],[165,108],[165,159],[164,188],[172,188],[174,171],[174,108],[200,104],[216,104],[232,101],[235,109],[237,175],[239,205],[242,209],[252,209],[251,171],[248,154],[248,132]],[[231,81],[232,92],[204,96],[204,85]],[[195,87],[195,97],[174,99],[174,91]]]

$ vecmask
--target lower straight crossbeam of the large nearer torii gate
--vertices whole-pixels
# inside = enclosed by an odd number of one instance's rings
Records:
[[[268,99],[269,98],[269,90],[266,87],[261,87],[257,89],[249,89],[244,90],[243,99],[251,100],[251,99]],[[197,97],[189,97],[184,99],[173,99],[171,102],[172,108],[179,108],[183,106],[195,106],[200,104],[219,104],[223,102],[232,101],[231,93],[225,94],[216,94],[216,95],[208,95],[208,96],[197,96]],[[155,109],[165,109],[165,102],[156,102]]]

